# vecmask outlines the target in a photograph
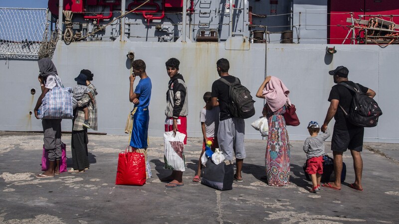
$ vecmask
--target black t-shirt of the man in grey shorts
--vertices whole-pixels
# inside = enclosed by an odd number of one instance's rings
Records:
[[[225,79],[229,83],[233,83],[235,81],[234,76],[222,76],[221,78]],[[239,81],[239,79],[238,79],[238,81]],[[227,109],[227,104],[229,103],[228,89],[229,89],[228,86],[219,80],[214,81],[212,84],[212,95],[211,96],[219,99],[219,109],[220,109],[219,120],[225,120],[225,119],[231,118],[231,115]]]

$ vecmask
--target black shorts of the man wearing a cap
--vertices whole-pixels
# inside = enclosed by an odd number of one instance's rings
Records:
[[[331,150],[345,152],[349,149],[361,152],[363,150],[364,132],[364,127],[351,130],[334,129],[333,138],[331,140]]]

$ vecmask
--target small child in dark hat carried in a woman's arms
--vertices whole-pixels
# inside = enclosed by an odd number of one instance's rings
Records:
[[[82,73],[75,78],[75,81],[77,82],[78,85],[76,85],[72,89],[73,98],[75,98],[76,101],[79,101],[87,94],[90,97],[91,102],[94,103],[93,95],[91,94],[90,89],[86,86],[86,80],[87,80],[86,75]],[[82,125],[86,128],[91,128],[89,124],[89,109],[87,108],[87,105],[89,103],[90,101],[81,107],[81,109],[84,112],[84,123]]]

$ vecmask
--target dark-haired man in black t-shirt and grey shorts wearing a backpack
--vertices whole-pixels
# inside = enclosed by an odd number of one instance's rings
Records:
[[[245,121],[241,117],[231,115],[232,112],[229,109],[229,105],[231,105],[229,84],[240,83],[240,81],[238,78],[228,74],[230,64],[227,59],[219,59],[216,62],[216,67],[220,79],[212,84],[211,102],[213,107],[219,106],[220,109],[217,141],[226,160],[232,160],[233,152],[235,153],[237,169],[234,174],[234,180],[242,182],[241,169],[245,158]],[[229,84],[223,82],[222,79]]]

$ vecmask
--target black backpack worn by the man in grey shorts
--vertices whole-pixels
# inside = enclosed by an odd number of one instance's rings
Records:
[[[241,117],[243,119],[249,118],[255,114],[255,107],[252,100],[251,93],[247,88],[241,85],[237,78],[234,83],[229,83],[227,80],[220,78],[221,82],[229,87],[229,101],[227,105],[228,112],[233,117]]]

